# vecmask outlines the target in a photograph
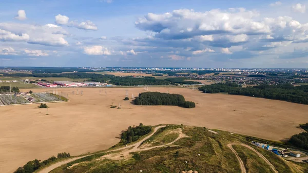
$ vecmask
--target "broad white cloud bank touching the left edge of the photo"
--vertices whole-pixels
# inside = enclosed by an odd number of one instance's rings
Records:
[[[50,25],[0,23],[0,41],[26,41],[30,44],[46,46],[69,45],[64,39],[65,35],[54,34],[57,31],[66,32],[61,27],[50,27]]]

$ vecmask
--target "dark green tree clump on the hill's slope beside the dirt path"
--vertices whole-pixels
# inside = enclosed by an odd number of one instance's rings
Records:
[[[126,131],[122,132],[120,144],[128,144],[137,141],[149,132],[151,132],[151,126],[144,126],[142,123],[136,127],[129,126]]]

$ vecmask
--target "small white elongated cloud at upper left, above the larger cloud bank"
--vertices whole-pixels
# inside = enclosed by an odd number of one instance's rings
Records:
[[[78,23],[77,21],[69,22],[69,17],[61,14],[55,16],[55,23],[85,30],[98,30],[98,27],[91,21],[81,23]]]

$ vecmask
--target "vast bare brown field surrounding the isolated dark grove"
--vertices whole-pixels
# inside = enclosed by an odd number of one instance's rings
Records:
[[[226,94],[204,94],[185,88],[149,88],[183,94],[196,108],[177,106],[136,106],[123,101],[125,91],[137,96],[143,88],[78,88],[83,95],[68,92],[65,103],[0,107],[0,172],[13,172],[35,158],[44,160],[59,152],[71,155],[98,151],[119,142],[128,126],[185,124],[221,129],[269,140],[283,140],[302,132],[308,122],[308,105]],[[100,95],[101,90],[101,95]],[[34,92],[46,89],[33,89]],[[121,109],[110,108],[110,105]],[[236,109],[236,111],[234,111]],[[47,115],[48,113],[48,115]]]

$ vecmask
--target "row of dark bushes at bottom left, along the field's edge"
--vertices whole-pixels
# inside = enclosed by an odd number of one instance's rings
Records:
[[[14,171],[14,173],[32,173],[35,170],[39,169],[40,167],[48,165],[51,162],[55,162],[58,159],[68,158],[68,157],[70,157],[70,153],[62,152],[62,153],[58,153],[57,158],[52,156],[44,160],[43,162],[41,162],[41,160],[35,159],[32,161],[29,161],[24,166],[19,167],[17,170]]]

